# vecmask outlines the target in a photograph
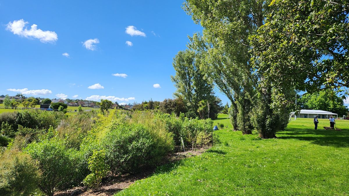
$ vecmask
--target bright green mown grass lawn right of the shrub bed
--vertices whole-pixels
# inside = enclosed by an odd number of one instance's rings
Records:
[[[319,128],[329,126],[319,121]],[[337,127],[342,132],[314,130],[313,119],[298,118],[277,139],[261,140],[230,125],[215,132],[221,144],[160,166],[116,195],[348,195],[349,120]]]

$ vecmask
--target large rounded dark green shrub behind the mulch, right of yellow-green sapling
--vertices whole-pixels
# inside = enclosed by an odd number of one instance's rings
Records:
[[[101,144],[113,172],[137,172],[153,158],[154,143],[149,131],[139,124],[119,126],[107,133]]]

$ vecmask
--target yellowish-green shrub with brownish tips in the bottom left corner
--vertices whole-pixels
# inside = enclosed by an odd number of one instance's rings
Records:
[[[18,151],[5,151],[0,159],[1,195],[32,195],[40,180],[38,163]]]

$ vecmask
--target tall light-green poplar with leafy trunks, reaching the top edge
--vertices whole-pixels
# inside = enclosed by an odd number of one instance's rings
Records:
[[[184,9],[203,26],[202,36],[193,36],[191,46],[205,56],[203,67],[214,83],[232,101],[234,128],[250,133],[247,118],[254,113],[261,138],[274,138],[283,128],[293,99],[292,86],[282,97],[273,81],[259,69],[251,37],[257,34],[269,13],[268,1],[187,0]],[[256,103],[251,105],[251,103]],[[293,105],[294,106],[294,105]],[[237,112],[238,111],[238,112]],[[235,123],[237,122],[237,125]]]

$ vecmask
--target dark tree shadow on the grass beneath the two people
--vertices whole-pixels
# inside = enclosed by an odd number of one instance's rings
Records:
[[[312,130],[302,128],[287,128],[277,134],[279,139],[296,139],[310,141],[320,146],[349,147],[349,131]]]

